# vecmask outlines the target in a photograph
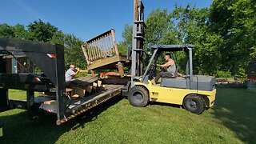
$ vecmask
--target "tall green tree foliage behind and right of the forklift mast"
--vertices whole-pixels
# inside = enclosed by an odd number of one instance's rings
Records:
[[[254,0],[214,0],[209,9],[187,5],[170,12],[153,10],[146,18],[144,49],[154,44],[194,44],[195,74],[226,71],[244,77],[248,62],[256,58],[255,10]],[[178,52],[174,58],[184,72],[186,56]]]

